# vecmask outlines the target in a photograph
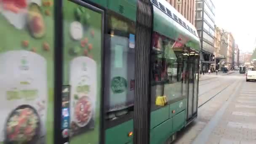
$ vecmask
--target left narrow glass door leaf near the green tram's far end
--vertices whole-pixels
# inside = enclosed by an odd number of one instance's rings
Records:
[[[189,56],[188,60],[188,107],[187,107],[187,119],[192,117],[193,111],[193,96],[194,96],[194,73],[195,73],[195,57]]]

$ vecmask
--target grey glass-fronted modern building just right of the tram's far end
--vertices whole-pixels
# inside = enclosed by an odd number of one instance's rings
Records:
[[[211,0],[196,0],[195,27],[201,42],[200,70],[214,64],[215,6]]]

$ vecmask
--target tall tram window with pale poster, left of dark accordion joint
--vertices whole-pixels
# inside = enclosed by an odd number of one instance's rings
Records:
[[[135,24],[114,13],[108,15],[105,45],[106,119],[132,114],[135,75]]]

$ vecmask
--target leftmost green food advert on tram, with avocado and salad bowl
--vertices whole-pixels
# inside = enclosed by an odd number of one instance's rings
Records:
[[[0,0],[0,143],[53,144],[53,0]]]

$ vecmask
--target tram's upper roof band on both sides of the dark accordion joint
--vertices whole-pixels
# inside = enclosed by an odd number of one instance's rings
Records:
[[[109,10],[115,11],[132,21],[136,21],[137,0],[90,0]],[[197,30],[166,0],[151,0],[154,13],[154,31],[165,35],[187,47],[200,51]]]

